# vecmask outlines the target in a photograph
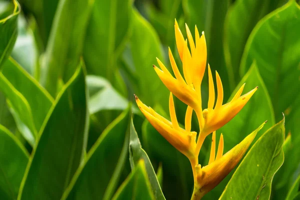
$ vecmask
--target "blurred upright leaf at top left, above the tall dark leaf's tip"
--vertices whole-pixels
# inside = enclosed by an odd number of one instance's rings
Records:
[[[92,0],[60,0],[57,5],[41,63],[41,82],[52,96],[76,69],[92,5]]]

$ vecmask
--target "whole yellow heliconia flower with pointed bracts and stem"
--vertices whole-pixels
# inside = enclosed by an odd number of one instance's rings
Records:
[[[230,121],[246,104],[257,87],[246,94],[241,95],[244,84],[238,89],[234,97],[228,103],[223,104],[223,85],[217,71],[215,71],[216,92],[213,83],[213,74],[208,64],[208,102],[207,108],[202,109],[201,82],[206,67],[207,49],[204,32],[199,35],[195,26],[195,37],[185,24],[187,38],[183,34],[175,20],[175,40],[180,60],[182,62],[183,76],[179,72],[173,54],[168,48],[173,75],[158,59],[160,68],[153,65],[155,72],[163,84],[170,90],[169,114],[170,120],[165,119],[153,109],[143,104],[136,96],[136,103],[148,121],[154,128],[176,149],[186,155],[190,160],[193,177],[194,193],[192,199],[200,199],[202,195],[220,182],[230,170],[238,163],[246,149],[250,145],[256,133],[248,135],[241,143],[233,147],[223,155],[223,135],[220,135],[217,152],[215,154],[215,130]],[[185,128],[178,124],[173,95],[187,104],[185,113]],[[191,117],[193,110],[196,113],[200,132],[196,141],[196,132],[191,131]],[[258,131],[258,130],[257,130]],[[198,155],[204,139],[212,133],[212,142],[208,165],[201,167],[198,164]]]

